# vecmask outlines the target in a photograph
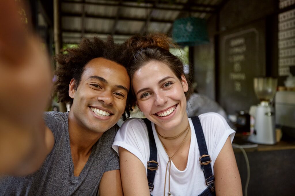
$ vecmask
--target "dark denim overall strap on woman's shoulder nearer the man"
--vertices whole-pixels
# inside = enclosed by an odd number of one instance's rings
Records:
[[[149,143],[150,143],[150,158],[148,161],[148,186],[150,188],[150,191],[154,189],[154,179],[156,170],[158,169],[158,162],[157,162],[157,146],[153,134],[152,124],[150,120],[147,118],[142,119],[147,128],[148,128],[148,137],[149,137]]]

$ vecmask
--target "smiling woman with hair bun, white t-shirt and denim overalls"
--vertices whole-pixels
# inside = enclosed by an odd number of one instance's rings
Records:
[[[189,83],[168,38],[133,36],[127,44],[134,105],[148,120],[125,121],[113,144],[124,195],[242,195],[235,131],[217,113],[188,118]]]

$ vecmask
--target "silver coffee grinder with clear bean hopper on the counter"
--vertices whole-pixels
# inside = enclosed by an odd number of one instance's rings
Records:
[[[275,114],[272,100],[276,94],[277,78],[254,78],[254,91],[258,105],[250,107],[250,136],[248,140],[258,144],[276,144]]]

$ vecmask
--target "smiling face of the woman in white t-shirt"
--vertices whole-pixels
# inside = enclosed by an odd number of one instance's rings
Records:
[[[168,65],[150,61],[138,69],[132,78],[138,108],[158,127],[168,130],[185,122],[188,84],[179,80]],[[187,124],[187,123],[186,123]]]

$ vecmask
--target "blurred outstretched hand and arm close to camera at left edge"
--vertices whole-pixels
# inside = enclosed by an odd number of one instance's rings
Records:
[[[50,97],[49,59],[19,10],[15,1],[0,2],[0,174],[9,175],[37,170],[54,141],[45,141],[53,135],[42,119]]]

